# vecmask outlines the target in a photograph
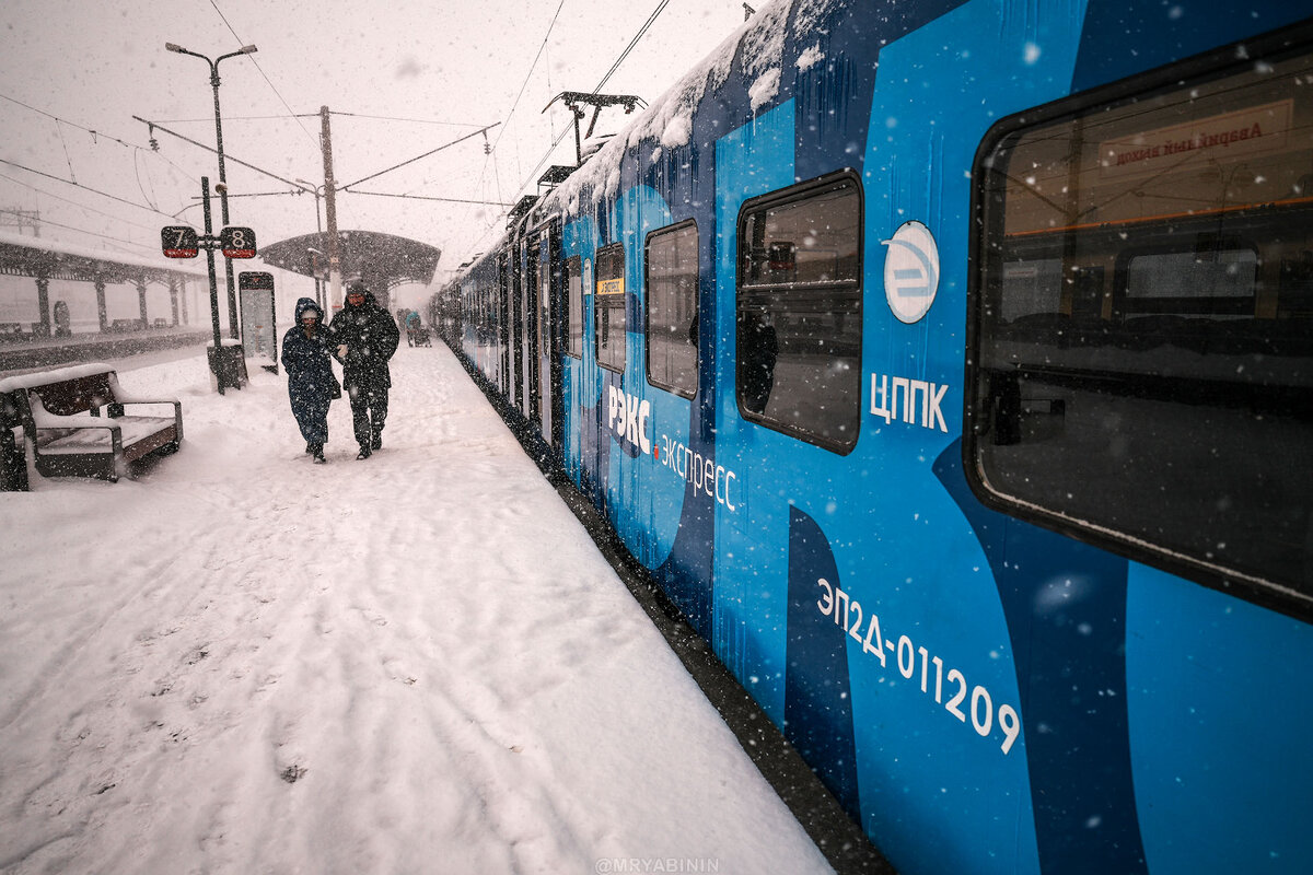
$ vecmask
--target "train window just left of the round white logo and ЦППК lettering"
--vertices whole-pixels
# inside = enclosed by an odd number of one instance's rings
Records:
[[[737,392],[748,420],[836,453],[861,418],[861,189],[850,172],[738,220]]]

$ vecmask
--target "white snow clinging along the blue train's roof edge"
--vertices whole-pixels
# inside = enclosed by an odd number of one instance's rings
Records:
[[[809,29],[842,0],[797,0],[794,21],[798,30]],[[794,0],[775,0],[760,9],[725,39],[702,63],[683,76],[672,88],[638,114],[622,131],[607,142],[583,167],[557,186],[544,203],[578,213],[579,198],[587,192],[613,197],[620,188],[620,165],[630,147],[643,140],[656,140],[651,157],[662,150],[687,146],[693,134],[693,113],[708,89],[721,88],[733,72],[734,58],[744,81],[752,112],[768,104],[780,89],[784,37]],[[739,49],[742,54],[739,55]],[[798,58],[798,67],[811,67],[822,55],[809,47]]]

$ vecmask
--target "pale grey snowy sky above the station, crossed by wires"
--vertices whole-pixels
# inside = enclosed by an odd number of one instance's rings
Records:
[[[202,174],[211,185],[218,180],[213,153],[163,131],[152,152],[146,126],[133,121],[214,144],[209,67],[165,51],[165,42],[211,58],[259,46],[219,67],[234,195],[289,186],[231,159],[322,182],[316,113],[327,105],[339,184],[500,123],[487,135],[492,156],[481,135],[361,188],[509,202],[536,190],[534,168],[570,125],[559,104],[542,114],[548,101],[593,89],[659,7],[662,0],[8,0],[0,7],[0,209],[39,210],[43,237],[158,252],[159,227],[175,222],[167,215],[193,203]],[[604,91],[654,100],[742,21],[739,0],[670,0]],[[570,134],[548,163],[572,156]],[[261,243],[315,230],[310,195],[234,197],[230,206],[231,224],[253,227]],[[496,210],[347,194],[339,227],[431,243],[445,253],[442,268],[454,268],[491,241]],[[201,210],[181,219],[200,228]]]

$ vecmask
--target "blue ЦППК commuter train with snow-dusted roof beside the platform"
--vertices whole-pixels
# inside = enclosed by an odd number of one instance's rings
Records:
[[[780,0],[431,302],[902,872],[1313,871],[1310,17]]]

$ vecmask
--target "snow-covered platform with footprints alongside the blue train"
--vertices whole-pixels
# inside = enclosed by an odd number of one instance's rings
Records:
[[[0,871],[830,871],[450,352],[327,466],[129,367],[181,451],[0,495]]]

